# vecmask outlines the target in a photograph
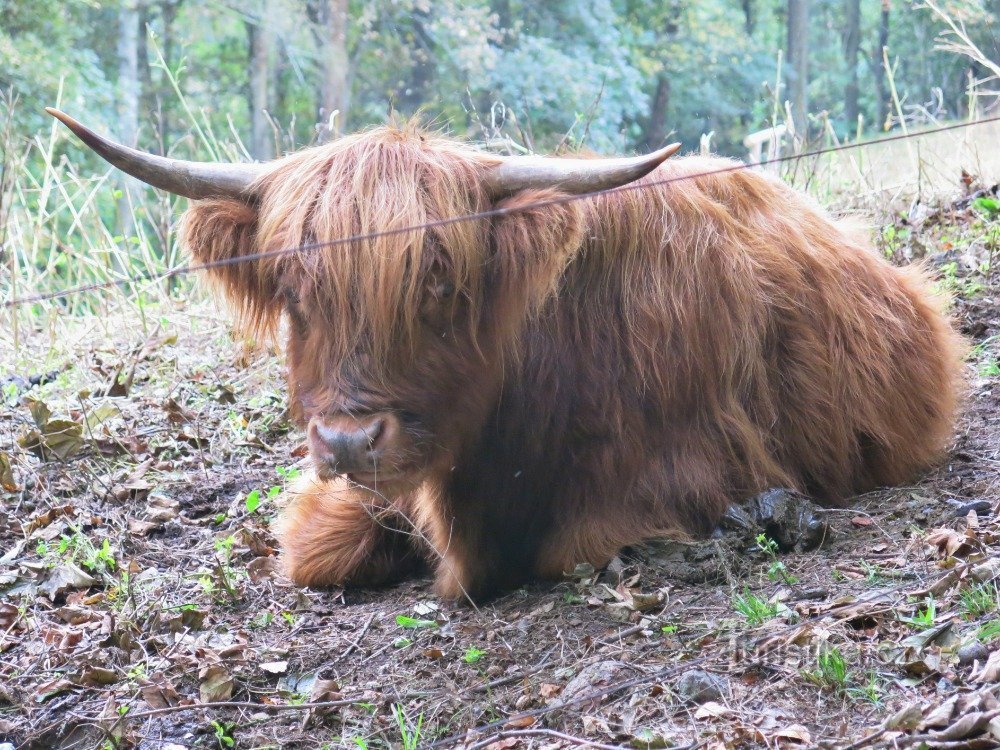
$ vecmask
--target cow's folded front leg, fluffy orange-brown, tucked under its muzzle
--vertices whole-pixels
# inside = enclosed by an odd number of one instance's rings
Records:
[[[307,478],[278,523],[284,566],[300,586],[376,586],[422,564],[407,519],[360,488]]]

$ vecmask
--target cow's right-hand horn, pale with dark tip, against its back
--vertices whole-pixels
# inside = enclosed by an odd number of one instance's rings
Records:
[[[625,185],[652,172],[681,144],[671,143],[645,156],[618,159],[554,159],[548,156],[511,156],[486,177],[496,198],[528,188],[554,187],[564,193],[595,193]]]

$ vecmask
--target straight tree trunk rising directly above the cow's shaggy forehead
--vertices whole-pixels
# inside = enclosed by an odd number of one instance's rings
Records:
[[[347,0],[320,0],[320,50],[323,77],[319,92],[317,134],[322,143],[343,132],[350,103],[347,56]],[[331,122],[331,115],[339,114]]]

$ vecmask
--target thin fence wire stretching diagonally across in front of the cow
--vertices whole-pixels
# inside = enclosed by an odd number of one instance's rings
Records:
[[[470,214],[462,214],[459,216],[449,216],[443,219],[436,219],[434,221],[429,221],[423,224],[415,224],[406,227],[397,227],[395,229],[387,229],[379,232],[370,232],[367,234],[357,234],[357,235],[352,235],[350,237],[340,237],[332,240],[324,240],[323,242],[305,243],[302,245],[297,245],[295,247],[267,250],[264,252],[250,253],[247,255],[234,256],[231,258],[221,258],[219,260],[211,261],[208,263],[192,263],[183,266],[178,266],[177,268],[172,268],[168,271],[164,271],[163,273],[152,274],[149,276],[110,279],[107,281],[81,284],[79,286],[69,287],[67,289],[60,289],[52,292],[42,292],[38,294],[26,295],[23,297],[16,297],[13,299],[6,300],[3,303],[3,307],[4,309],[9,310],[15,307],[20,307],[22,305],[35,304],[38,302],[46,302],[49,300],[69,297],[71,295],[81,294],[84,292],[100,291],[103,289],[111,289],[119,286],[152,284],[160,281],[165,281],[167,279],[171,279],[184,274],[194,273],[196,271],[208,271],[213,268],[236,265],[238,263],[249,263],[285,255],[294,255],[296,253],[311,252],[313,250],[318,250],[326,247],[336,247],[339,245],[348,245],[354,242],[364,242],[369,240],[381,239],[384,237],[393,237],[393,236],[408,234],[410,232],[435,229],[437,227],[456,224],[463,221],[478,221],[481,219],[491,219],[521,211],[532,211],[539,208],[546,208],[549,206],[564,205],[567,203],[572,203],[574,201],[589,200],[603,195],[613,195],[615,193],[624,193],[633,190],[648,190],[651,188],[662,187],[664,185],[670,185],[675,182],[681,182],[682,180],[696,180],[703,177],[711,177],[713,175],[726,174],[729,172],[736,172],[744,169],[753,169],[755,167],[760,167],[760,166],[771,166],[781,163],[800,161],[802,159],[811,159],[814,157],[825,156],[827,154],[834,154],[842,151],[850,151],[854,149],[865,148],[868,146],[875,146],[883,143],[892,143],[894,141],[903,141],[903,140],[908,140],[910,138],[919,138],[922,136],[934,135],[937,133],[945,133],[949,131],[973,127],[976,125],[987,125],[989,123],[994,123],[994,122],[1000,122],[1000,116],[984,118],[981,120],[952,123],[951,125],[943,125],[941,127],[931,128],[929,130],[923,130],[915,133],[913,132],[899,133],[897,135],[888,136],[886,138],[870,139],[867,141],[857,141],[855,143],[843,143],[837,146],[832,146],[830,148],[815,149],[812,151],[805,151],[798,154],[788,154],[786,156],[781,156],[775,159],[771,159],[765,162],[764,164],[748,164],[745,162],[740,162],[737,164],[732,164],[727,167],[707,170],[695,174],[680,175],[677,177],[669,177],[662,180],[651,180],[648,182],[630,183],[628,185],[622,185],[619,187],[609,188],[606,190],[598,190],[589,193],[579,193],[576,195],[564,195],[557,198],[550,198],[547,200],[535,201],[533,203],[525,203],[517,206],[491,208],[485,211],[478,211]]]

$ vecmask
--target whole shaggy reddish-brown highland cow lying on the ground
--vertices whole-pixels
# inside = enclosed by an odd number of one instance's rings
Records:
[[[384,127],[203,165],[61,119],[203,199],[184,222],[198,261],[382,233],[212,271],[252,328],[287,316],[316,466],[281,521],[300,584],[427,560],[442,595],[482,596],[704,534],[768,487],[836,505],[905,482],[951,434],[963,346],[922,274],[732,162],[678,159],[647,189],[553,203],[670,150],[502,160]],[[511,210],[385,234],[492,207]]]

